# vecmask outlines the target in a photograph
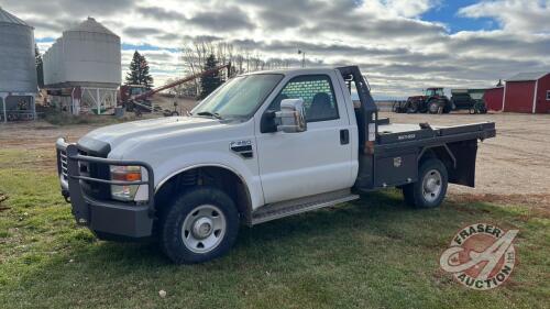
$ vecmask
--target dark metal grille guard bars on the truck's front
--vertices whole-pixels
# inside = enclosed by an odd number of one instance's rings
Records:
[[[92,197],[86,195],[82,191],[82,184],[85,183],[97,183],[106,185],[118,185],[118,186],[130,186],[130,185],[147,185],[147,201],[146,206],[148,213],[152,217],[154,214],[154,174],[153,167],[145,162],[140,161],[125,161],[125,159],[111,159],[103,157],[95,157],[79,154],[76,144],[67,143],[64,139],[58,139],[56,142],[57,150],[57,173],[59,175],[59,180],[62,185],[62,194],[67,201],[73,205],[73,213],[77,219],[78,223],[87,224],[89,222],[89,205],[90,203],[102,203],[108,202],[109,205],[119,205],[121,207],[129,207],[128,202],[119,202],[114,200],[100,201]],[[123,181],[123,180],[111,180],[91,177],[82,175],[80,173],[81,165],[94,163],[98,165],[106,165],[107,168],[111,165],[117,166],[141,166],[147,172],[146,180],[140,181]],[[86,174],[86,173],[85,173]]]

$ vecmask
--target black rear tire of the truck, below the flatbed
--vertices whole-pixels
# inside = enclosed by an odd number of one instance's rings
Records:
[[[433,177],[433,172],[439,173],[440,176],[440,190],[437,194],[425,192],[425,183],[428,180],[426,177]],[[429,158],[420,163],[418,169],[418,181],[403,187],[403,197],[405,202],[416,208],[436,208],[443,202],[447,194],[449,176],[444,164],[437,158]],[[437,183],[436,183],[437,184]],[[426,195],[432,195],[427,198]]]

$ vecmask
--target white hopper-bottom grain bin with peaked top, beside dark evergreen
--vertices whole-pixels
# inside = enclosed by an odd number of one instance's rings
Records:
[[[74,114],[112,110],[121,71],[120,37],[92,18],[64,31],[44,54],[44,84],[63,89],[53,100]]]

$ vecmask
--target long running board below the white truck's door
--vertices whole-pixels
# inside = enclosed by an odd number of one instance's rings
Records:
[[[345,189],[266,205],[252,213],[252,225],[355,199],[359,196]]]

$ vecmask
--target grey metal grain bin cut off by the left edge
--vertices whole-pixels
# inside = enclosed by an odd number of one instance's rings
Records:
[[[33,27],[0,8],[0,120],[33,119],[36,92]]]

